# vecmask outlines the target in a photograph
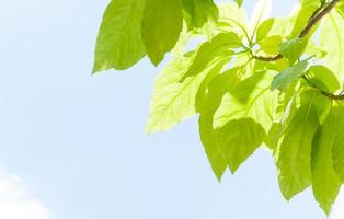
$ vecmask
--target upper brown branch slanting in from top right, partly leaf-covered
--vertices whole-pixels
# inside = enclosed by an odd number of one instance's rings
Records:
[[[341,0],[333,0],[331,1],[326,7],[323,8],[323,5],[321,5],[320,8],[318,8],[316,10],[316,12],[312,14],[312,16],[309,19],[307,25],[305,26],[305,28],[300,32],[300,34],[298,35],[298,38],[303,38],[306,37],[309,32],[312,30],[313,26],[317,25],[318,22],[320,22],[320,20],[325,16],[326,14],[329,14],[332,9],[340,2]],[[276,56],[273,57],[264,57],[264,56],[257,56],[257,55],[252,55],[252,57],[254,59],[261,60],[261,61],[277,61],[279,59],[283,58],[282,54],[278,54]]]

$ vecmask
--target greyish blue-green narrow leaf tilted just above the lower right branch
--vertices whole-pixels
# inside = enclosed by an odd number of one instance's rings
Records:
[[[295,66],[289,67],[282,73],[275,76],[274,81],[272,83],[272,90],[286,89],[291,82],[297,80],[299,77],[306,74],[309,67],[310,67],[309,61],[300,61]]]

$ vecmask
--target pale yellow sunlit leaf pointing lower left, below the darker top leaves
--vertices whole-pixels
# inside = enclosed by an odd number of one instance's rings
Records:
[[[150,104],[150,115],[147,125],[149,134],[164,131],[173,127],[183,119],[195,115],[195,96],[198,88],[211,71],[220,71],[223,64],[208,67],[202,73],[190,77],[180,82],[185,73],[185,68],[190,65],[191,58],[174,60],[159,74]]]

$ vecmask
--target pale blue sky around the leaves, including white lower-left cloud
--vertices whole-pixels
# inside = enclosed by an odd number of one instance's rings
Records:
[[[283,199],[263,150],[219,184],[196,119],[147,136],[160,68],[90,74],[107,2],[0,1],[0,218],[325,218],[310,191]]]

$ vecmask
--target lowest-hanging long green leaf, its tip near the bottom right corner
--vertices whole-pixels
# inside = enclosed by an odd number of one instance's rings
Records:
[[[312,148],[312,188],[321,208],[326,215],[331,211],[341,181],[333,169],[332,147],[336,143],[336,132],[343,128],[343,113],[333,108],[319,127]],[[343,143],[342,143],[343,146]]]

